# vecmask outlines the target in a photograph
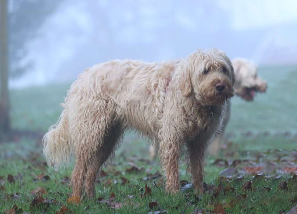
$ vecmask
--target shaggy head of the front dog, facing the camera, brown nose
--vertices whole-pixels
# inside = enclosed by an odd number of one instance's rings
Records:
[[[194,93],[202,105],[222,105],[233,96],[235,76],[230,59],[218,49],[197,50],[184,61],[181,93]]]

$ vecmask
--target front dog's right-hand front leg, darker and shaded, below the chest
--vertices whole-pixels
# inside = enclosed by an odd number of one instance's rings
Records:
[[[192,174],[192,182],[196,194],[202,194],[203,188],[203,175],[204,175],[204,156],[205,145],[202,142],[193,140],[187,143],[190,167]]]

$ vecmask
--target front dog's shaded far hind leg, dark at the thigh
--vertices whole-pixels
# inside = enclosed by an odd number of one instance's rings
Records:
[[[89,161],[85,180],[86,195],[89,198],[95,196],[95,180],[100,167],[113,152],[122,136],[123,129],[120,124],[112,126],[110,131],[104,137],[102,145],[97,147],[96,155]]]

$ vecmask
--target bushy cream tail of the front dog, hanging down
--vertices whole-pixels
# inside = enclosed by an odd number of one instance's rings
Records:
[[[69,138],[68,119],[63,110],[59,121],[49,128],[42,139],[43,154],[47,164],[56,171],[72,161]]]

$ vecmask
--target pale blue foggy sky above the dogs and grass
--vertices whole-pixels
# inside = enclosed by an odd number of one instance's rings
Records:
[[[27,44],[34,68],[11,87],[72,81],[110,59],[163,61],[219,48],[258,64],[296,64],[297,1],[65,0]]]

